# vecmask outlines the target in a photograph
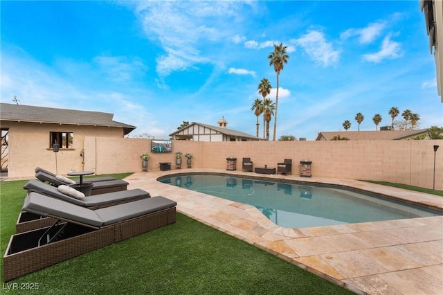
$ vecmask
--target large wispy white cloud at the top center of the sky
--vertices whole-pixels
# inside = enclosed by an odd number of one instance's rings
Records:
[[[156,58],[161,77],[183,71],[197,63],[210,62],[199,49],[202,44],[217,42],[230,34],[219,21],[237,16],[242,3],[230,1],[136,1],[148,39],[163,47],[165,54]],[[244,37],[236,35],[233,42]]]

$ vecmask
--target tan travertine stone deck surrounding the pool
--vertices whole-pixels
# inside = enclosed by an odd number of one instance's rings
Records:
[[[273,224],[253,206],[156,181],[177,172],[260,176],[241,171],[183,169],[135,173],[125,180],[128,188],[174,199],[179,212],[358,294],[443,294],[443,216],[287,229]],[[442,197],[363,181],[266,177],[342,184],[443,208]]]

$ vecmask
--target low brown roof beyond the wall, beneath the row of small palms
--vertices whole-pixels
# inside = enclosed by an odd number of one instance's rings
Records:
[[[374,141],[395,141],[406,139],[427,132],[427,129],[418,130],[379,130],[379,131],[336,131],[336,132],[320,132],[316,141],[332,141],[334,136],[349,138],[352,141],[358,140],[374,140]]]

